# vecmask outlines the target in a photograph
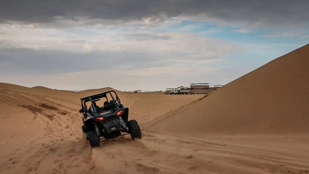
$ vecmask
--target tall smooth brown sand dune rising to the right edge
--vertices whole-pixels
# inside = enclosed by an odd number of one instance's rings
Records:
[[[193,136],[309,133],[309,45],[147,124]]]

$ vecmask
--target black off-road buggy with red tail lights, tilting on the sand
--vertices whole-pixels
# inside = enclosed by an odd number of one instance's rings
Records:
[[[96,102],[104,99],[104,106]],[[111,99],[111,100],[109,100]],[[130,134],[132,139],[142,138],[142,132],[136,120],[129,120],[129,108],[121,104],[114,90],[82,97],[83,133],[87,133],[90,146],[100,146],[100,142]],[[87,104],[89,109],[87,109]]]

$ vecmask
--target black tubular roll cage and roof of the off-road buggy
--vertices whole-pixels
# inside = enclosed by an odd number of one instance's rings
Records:
[[[114,96],[112,95],[112,92],[116,95],[116,100],[115,100]],[[105,92],[102,92],[102,93],[93,94],[93,95],[89,95],[89,96],[80,98],[81,104],[82,104],[82,111],[83,111],[84,115],[88,112],[86,102],[90,101],[91,106],[93,108],[95,108],[95,106],[93,104],[94,100],[96,101],[99,98],[105,97],[106,101],[108,102],[108,98],[107,98],[106,94],[110,94],[110,96],[112,97],[112,100],[113,100],[113,105],[115,105],[115,107],[120,106],[121,102],[120,102],[120,99],[119,99],[117,93],[113,89],[111,89],[111,90],[108,90],[108,91],[105,91]],[[107,105],[107,106],[111,106],[111,105]],[[99,108],[104,108],[104,107],[107,107],[107,106],[103,106],[103,107],[99,107]],[[96,109],[94,109],[94,114],[97,115]]]

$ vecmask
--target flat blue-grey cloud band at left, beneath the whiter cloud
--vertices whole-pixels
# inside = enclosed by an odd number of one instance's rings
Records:
[[[60,50],[0,49],[0,73],[60,74],[121,66],[161,67],[166,63],[164,58],[166,57],[163,55],[143,53],[74,53]]]

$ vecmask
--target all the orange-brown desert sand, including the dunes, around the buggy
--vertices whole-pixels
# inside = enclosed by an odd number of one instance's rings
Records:
[[[143,137],[91,149],[80,92],[0,83],[0,173],[309,173],[309,45],[209,95],[117,91]]]

